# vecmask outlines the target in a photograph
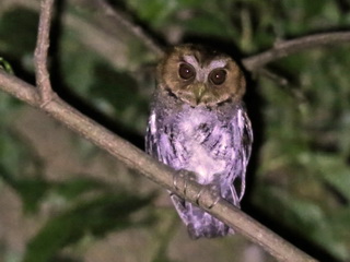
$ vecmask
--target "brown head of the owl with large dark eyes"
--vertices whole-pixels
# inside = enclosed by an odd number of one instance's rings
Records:
[[[190,106],[240,100],[245,79],[229,56],[202,46],[174,47],[158,67],[159,88]]]

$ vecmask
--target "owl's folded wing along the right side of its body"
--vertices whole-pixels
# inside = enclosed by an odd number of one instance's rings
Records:
[[[247,116],[247,112],[244,107],[240,108],[237,111],[237,121],[234,121],[232,124],[234,127],[234,135],[237,135],[235,140],[235,151],[236,158],[232,171],[232,187],[231,193],[234,200],[234,203],[241,201],[245,192],[245,175],[248,160],[252,153],[252,143],[253,143],[253,130],[252,123]]]

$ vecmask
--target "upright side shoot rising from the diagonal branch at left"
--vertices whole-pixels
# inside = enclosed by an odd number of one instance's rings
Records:
[[[54,0],[44,0],[40,3],[40,17],[35,48],[36,85],[39,90],[42,106],[52,98],[52,88],[47,70],[47,52],[49,47],[49,28],[52,16]]]

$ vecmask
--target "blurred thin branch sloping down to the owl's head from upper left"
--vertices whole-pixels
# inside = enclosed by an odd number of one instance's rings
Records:
[[[149,47],[156,56],[161,57],[164,55],[163,49],[158,45],[152,37],[150,37],[141,26],[131,22],[131,19],[128,17],[120,10],[113,8],[105,0],[97,0],[102,10],[109,17],[115,19],[118,23],[127,27],[136,37],[138,37],[147,47]]]

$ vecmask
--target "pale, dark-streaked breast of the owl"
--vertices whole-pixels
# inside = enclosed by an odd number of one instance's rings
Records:
[[[179,157],[176,169],[198,175],[198,182],[209,183],[214,175],[226,171],[234,157],[232,134],[228,124],[206,108],[189,108],[178,114],[171,123],[176,130],[173,146]]]

